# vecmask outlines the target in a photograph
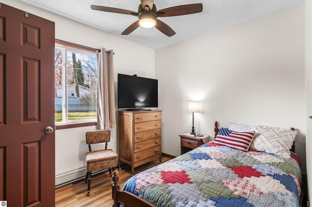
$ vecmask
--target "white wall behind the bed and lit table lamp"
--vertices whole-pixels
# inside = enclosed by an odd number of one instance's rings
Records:
[[[156,50],[156,78],[164,153],[180,154],[198,100],[195,132],[214,136],[215,121],[294,127],[305,172],[303,4]]]

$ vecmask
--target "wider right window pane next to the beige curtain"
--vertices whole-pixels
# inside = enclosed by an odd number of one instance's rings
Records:
[[[68,120],[97,118],[98,65],[95,56],[67,51]]]

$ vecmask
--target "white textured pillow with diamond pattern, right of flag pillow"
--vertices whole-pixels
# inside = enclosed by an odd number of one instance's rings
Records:
[[[296,131],[261,125],[254,126],[251,130],[255,131],[256,135],[254,136],[250,150],[265,151],[281,157],[290,158],[290,149],[297,135]]]

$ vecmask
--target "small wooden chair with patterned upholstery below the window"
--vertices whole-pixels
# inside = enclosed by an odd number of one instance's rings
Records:
[[[107,142],[111,140],[111,131],[92,131],[86,132],[86,143],[89,145],[89,151],[86,152],[87,174],[85,182],[88,181],[87,196],[90,195],[92,171],[100,169],[108,169],[109,175],[112,177],[112,169],[117,166],[117,154],[111,149],[107,149]],[[104,150],[92,151],[91,144],[105,143]]]

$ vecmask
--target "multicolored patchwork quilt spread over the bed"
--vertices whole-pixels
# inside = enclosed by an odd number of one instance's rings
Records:
[[[296,159],[209,142],[124,185],[157,207],[299,207]]]

